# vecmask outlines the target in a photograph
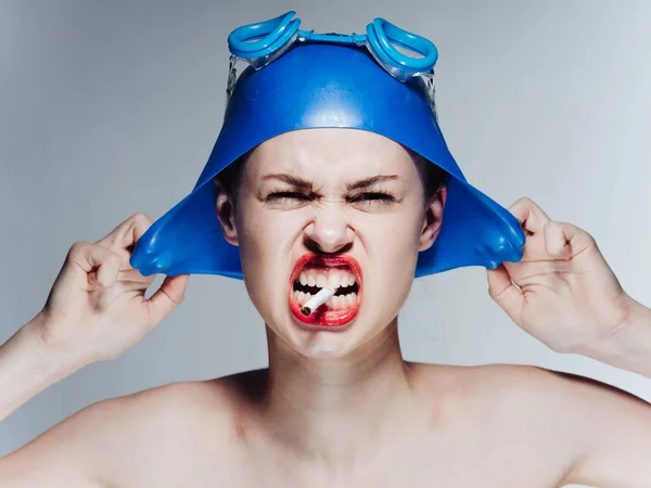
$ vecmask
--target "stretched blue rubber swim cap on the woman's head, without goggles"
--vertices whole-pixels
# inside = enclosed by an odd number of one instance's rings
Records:
[[[441,232],[433,246],[420,253],[416,278],[464,266],[495,269],[522,258],[525,237],[520,222],[468,183],[420,78],[397,80],[359,47],[305,42],[259,70],[244,70],[194,189],[138,241],[131,266],[143,275],[242,279],[239,248],[226,242],[217,220],[213,178],[276,136],[335,127],[384,136],[450,175]]]

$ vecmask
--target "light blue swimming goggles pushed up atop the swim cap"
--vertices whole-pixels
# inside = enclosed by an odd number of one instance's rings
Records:
[[[422,77],[433,104],[434,64],[438,59],[438,50],[432,41],[380,17],[367,25],[366,34],[317,34],[314,30],[301,30],[301,20],[294,18],[295,14],[290,11],[270,21],[243,25],[228,36],[231,52],[228,99],[234,89],[235,63],[239,60],[257,70],[277,60],[295,42],[311,41],[366,46],[378,64],[394,78],[407,81],[412,77]],[[412,55],[404,54],[398,48]]]

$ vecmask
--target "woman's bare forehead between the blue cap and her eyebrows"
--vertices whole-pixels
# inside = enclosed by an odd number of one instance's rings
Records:
[[[258,145],[246,163],[253,177],[286,172],[321,180],[390,172],[409,178],[414,170],[409,152],[397,142],[374,132],[342,128],[282,133]]]

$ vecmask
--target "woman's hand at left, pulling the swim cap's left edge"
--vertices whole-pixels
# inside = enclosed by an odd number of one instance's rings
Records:
[[[36,321],[49,349],[81,364],[117,358],[182,301],[189,274],[166,277],[145,299],[155,275],[145,278],[129,265],[136,242],[151,224],[139,213],[97,243],[71,247]]]

